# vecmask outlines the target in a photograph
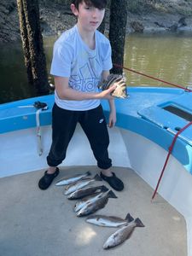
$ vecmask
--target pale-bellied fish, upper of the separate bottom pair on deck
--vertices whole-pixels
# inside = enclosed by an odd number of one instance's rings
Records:
[[[130,213],[126,215],[125,219],[115,217],[115,216],[105,216],[105,215],[91,215],[90,217],[86,218],[86,222],[90,224],[95,224],[97,226],[102,226],[102,227],[113,227],[113,228],[118,228],[120,226],[130,223],[133,220],[134,218],[132,218]]]

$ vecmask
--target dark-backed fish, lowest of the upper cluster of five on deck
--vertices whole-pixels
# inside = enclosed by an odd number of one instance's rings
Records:
[[[98,198],[96,201],[90,202],[84,207],[82,207],[77,213],[77,216],[78,217],[86,216],[86,215],[89,215],[90,213],[96,212],[99,209],[102,209],[103,207],[106,206],[106,204],[108,203],[108,198],[110,197],[117,198],[117,196],[114,195],[112,190],[106,192],[104,196],[102,196],[101,198]]]

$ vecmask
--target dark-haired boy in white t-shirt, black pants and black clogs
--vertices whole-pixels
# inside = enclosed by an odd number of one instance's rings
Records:
[[[108,158],[108,129],[100,104],[107,99],[110,106],[109,127],[116,122],[116,110],[111,93],[98,91],[98,84],[107,79],[112,68],[109,41],[96,29],[102,23],[107,0],[75,0],[71,4],[78,19],[72,29],[55,42],[50,73],[55,76],[55,105],[52,111],[52,144],[47,157],[49,168],[39,180],[40,189],[47,189],[59,174],[58,165],[66,157],[68,143],[77,123],[88,137],[90,147],[102,170],[102,179],[113,189],[124,184],[111,172]]]

